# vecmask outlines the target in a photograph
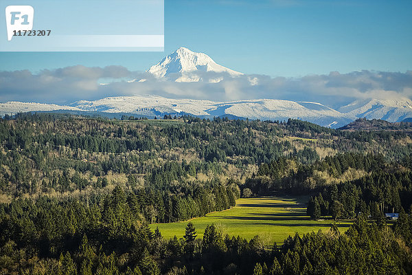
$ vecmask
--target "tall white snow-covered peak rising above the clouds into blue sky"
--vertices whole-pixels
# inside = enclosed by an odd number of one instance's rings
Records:
[[[156,78],[165,78],[176,82],[198,82],[203,80],[198,72],[226,73],[229,76],[240,76],[242,73],[218,65],[207,54],[192,52],[185,47],[163,58],[162,61],[148,69]],[[215,81],[216,82],[216,81]]]

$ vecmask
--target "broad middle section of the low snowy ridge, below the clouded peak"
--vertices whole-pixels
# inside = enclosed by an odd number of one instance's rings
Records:
[[[308,105],[304,106],[305,103],[308,103]],[[312,105],[315,108],[310,108],[313,107]],[[299,103],[272,99],[214,102],[211,100],[175,100],[160,96],[119,96],[95,101],[80,101],[76,102],[74,106],[84,111],[135,113],[137,115],[163,115],[183,112],[208,118],[220,115],[236,115],[240,118],[260,120],[297,118],[324,126],[328,126],[333,122],[336,126],[342,126],[352,121],[352,118],[347,115],[319,103]]]

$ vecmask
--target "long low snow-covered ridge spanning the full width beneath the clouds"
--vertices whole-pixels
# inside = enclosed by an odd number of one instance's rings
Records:
[[[339,110],[326,107],[317,102],[295,102],[291,100],[234,100],[218,102],[212,100],[171,99],[161,96],[116,96],[100,100],[81,100],[71,106],[39,104],[26,102],[0,103],[0,114],[20,111],[84,111],[107,114],[133,114],[137,117],[163,116],[166,114],[189,114],[201,118],[229,115],[233,118],[260,120],[288,120],[296,118],[338,128],[356,118],[383,119],[400,122],[412,118],[412,102],[403,100],[366,100],[355,101]]]

